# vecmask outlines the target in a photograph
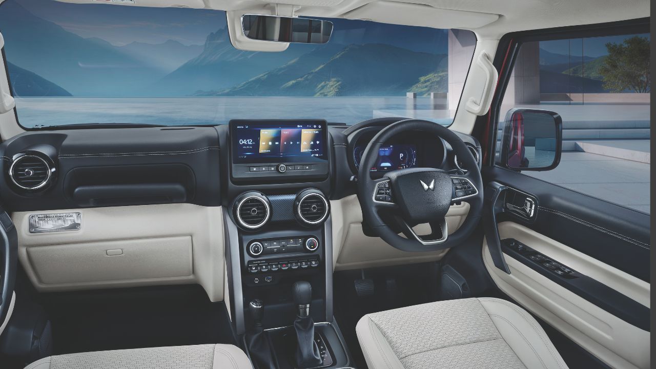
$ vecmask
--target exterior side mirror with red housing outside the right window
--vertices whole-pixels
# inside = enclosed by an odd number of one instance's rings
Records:
[[[548,171],[560,163],[563,119],[548,110],[511,109],[506,114],[501,165],[516,171]]]

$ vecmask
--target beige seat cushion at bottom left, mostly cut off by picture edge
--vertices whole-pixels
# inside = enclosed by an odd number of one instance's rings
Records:
[[[96,351],[42,358],[26,369],[253,369],[233,345],[194,345]]]

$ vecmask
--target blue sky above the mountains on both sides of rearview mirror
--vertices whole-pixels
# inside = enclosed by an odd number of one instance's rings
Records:
[[[206,9],[70,4],[54,0],[16,0],[39,18],[84,38],[97,37],[116,46],[134,41],[203,45],[209,33],[226,27],[226,13]],[[333,42],[382,42],[413,51],[446,53],[446,31],[336,19]]]

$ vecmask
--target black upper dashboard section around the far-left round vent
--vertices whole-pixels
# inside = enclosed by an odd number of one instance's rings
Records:
[[[214,127],[71,129],[23,133],[0,145],[3,204],[12,211],[188,202],[220,205]],[[28,191],[10,180],[25,152],[49,160],[52,183]]]

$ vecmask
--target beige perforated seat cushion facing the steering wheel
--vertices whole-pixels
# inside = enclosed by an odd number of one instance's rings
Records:
[[[501,299],[440,301],[363,316],[369,369],[566,369],[533,316]]]

